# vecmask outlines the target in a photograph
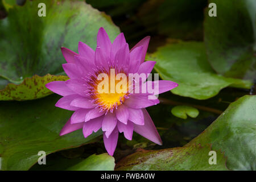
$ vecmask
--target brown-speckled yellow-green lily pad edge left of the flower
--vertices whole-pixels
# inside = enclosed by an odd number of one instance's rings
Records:
[[[0,90],[0,100],[2,101],[24,101],[34,100],[52,94],[51,90],[46,88],[46,84],[51,81],[65,81],[67,76],[54,76],[47,74],[40,77],[38,75],[31,78],[25,78],[19,85],[8,84],[4,89]]]

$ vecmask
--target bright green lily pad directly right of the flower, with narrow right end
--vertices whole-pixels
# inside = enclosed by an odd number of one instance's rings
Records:
[[[173,42],[147,55],[156,61],[155,70],[163,80],[179,84],[171,92],[179,96],[205,100],[216,96],[222,88],[234,86],[249,89],[250,81],[216,75],[207,61],[203,42]]]

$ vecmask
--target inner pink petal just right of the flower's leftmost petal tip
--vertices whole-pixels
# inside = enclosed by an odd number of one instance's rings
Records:
[[[69,89],[73,90],[73,92],[80,94],[80,96],[88,97],[86,92],[88,86],[85,81],[71,79],[65,81],[65,84]]]

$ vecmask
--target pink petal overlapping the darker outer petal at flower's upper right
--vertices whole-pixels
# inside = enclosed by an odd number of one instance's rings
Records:
[[[137,73],[139,65],[141,65],[142,49],[143,46],[139,46],[130,52],[129,73]]]

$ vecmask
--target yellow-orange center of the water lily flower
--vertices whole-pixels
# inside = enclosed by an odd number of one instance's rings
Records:
[[[97,78],[91,77],[93,88],[91,97],[94,104],[97,104],[102,111],[110,110],[113,113],[113,110],[117,109],[129,97],[126,74],[116,72],[116,69],[110,69],[109,72],[96,73]]]

